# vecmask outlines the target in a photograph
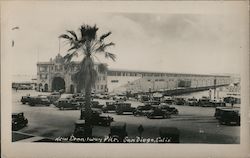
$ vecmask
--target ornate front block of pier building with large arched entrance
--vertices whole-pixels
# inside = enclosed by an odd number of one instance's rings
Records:
[[[53,92],[64,90],[67,93],[77,93],[81,90],[77,88],[76,83],[72,80],[80,66],[80,62],[72,62],[70,66],[64,64],[63,57],[58,54],[55,59],[49,62],[37,63],[37,90],[44,92]],[[95,64],[98,72],[97,82],[93,90],[96,92],[105,92],[107,90],[106,72],[98,71],[98,64]]]

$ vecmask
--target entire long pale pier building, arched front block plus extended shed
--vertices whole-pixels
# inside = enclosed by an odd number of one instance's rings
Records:
[[[63,57],[58,54],[49,62],[37,63],[37,85],[39,91],[58,91],[64,89],[67,93],[76,93],[80,90],[73,82],[72,75],[79,70],[79,62],[72,62],[66,66]],[[213,85],[228,85],[230,76],[225,75],[201,75],[164,72],[145,72],[131,70],[109,69],[105,73],[98,71],[95,64],[98,79],[93,91],[102,92],[148,92],[171,90],[177,88],[198,88]]]

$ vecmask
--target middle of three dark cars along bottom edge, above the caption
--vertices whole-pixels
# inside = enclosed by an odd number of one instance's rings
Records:
[[[114,138],[114,140],[122,143],[124,138],[128,136],[126,130],[126,123],[124,122],[112,122],[110,124],[109,137]]]

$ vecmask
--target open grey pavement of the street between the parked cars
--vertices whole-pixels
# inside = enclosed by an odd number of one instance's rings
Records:
[[[73,133],[74,122],[80,117],[80,110],[59,110],[54,105],[34,106],[23,105],[21,96],[38,92],[30,90],[13,90],[13,112],[24,112],[29,120],[28,126],[19,132],[34,136],[55,139],[59,136],[67,137]],[[101,104],[105,100],[98,100]],[[129,101],[133,107],[142,105],[136,101]],[[127,124],[128,136],[138,136],[137,128],[140,124],[144,127],[142,137],[156,138],[159,136],[158,129],[162,126],[177,127],[180,130],[181,143],[216,143],[231,144],[240,143],[240,127],[219,125],[213,117],[214,108],[191,107],[172,105],[179,110],[179,115],[170,119],[148,119],[146,117],[135,117],[133,115],[116,115],[108,113],[115,121],[123,121]],[[93,135],[97,137],[108,136],[109,127],[94,126]]]

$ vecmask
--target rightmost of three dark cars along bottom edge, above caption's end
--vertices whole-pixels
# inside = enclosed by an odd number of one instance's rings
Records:
[[[162,143],[180,143],[180,131],[176,127],[160,127],[159,135]]]

